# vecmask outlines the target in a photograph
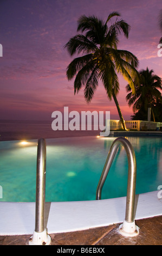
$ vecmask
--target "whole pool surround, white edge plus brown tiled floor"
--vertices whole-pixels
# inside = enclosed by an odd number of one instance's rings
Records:
[[[46,203],[51,245],[162,245],[162,198],[159,191],[137,194],[136,237],[118,233],[126,197],[84,202]],[[35,227],[35,203],[0,204],[0,245],[27,245]]]

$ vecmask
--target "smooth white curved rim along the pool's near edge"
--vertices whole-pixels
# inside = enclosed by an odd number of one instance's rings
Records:
[[[135,220],[162,215],[159,191],[135,196]],[[122,223],[126,197],[46,203],[48,234],[85,230]],[[35,229],[35,203],[0,202],[0,235],[32,235]],[[140,227],[139,227],[140,228]]]

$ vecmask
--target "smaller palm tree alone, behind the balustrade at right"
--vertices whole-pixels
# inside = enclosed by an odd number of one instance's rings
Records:
[[[153,106],[158,100],[161,100],[161,93],[158,89],[162,89],[161,78],[153,74],[153,70],[141,70],[139,71],[138,81],[134,80],[135,86],[135,95],[131,92],[131,87],[129,84],[126,86],[127,92],[130,92],[126,96],[128,105],[133,105],[133,111],[138,111],[139,109],[147,110],[148,107],[151,107],[153,114]]]

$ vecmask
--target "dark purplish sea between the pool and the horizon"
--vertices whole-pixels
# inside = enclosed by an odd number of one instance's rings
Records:
[[[81,129],[74,131],[54,131],[51,128],[51,123],[52,120],[0,120],[0,141],[96,136],[100,133],[100,130],[81,131]]]

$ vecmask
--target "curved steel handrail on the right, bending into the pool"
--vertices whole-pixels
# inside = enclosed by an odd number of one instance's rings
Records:
[[[96,189],[96,200],[101,199],[102,187],[105,183],[109,169],[113,162],[116,150],[119,145],[122,145],[127,153],[128,158],[128,182],[127,182],[127,197],[126,197],[126,215],[124,222],[119,227],[120,234],[124,236],[136,236],[139,234],[139,228],[134,221],[134,199],[135,199],[135,184],[136,184],[136,159],[131,143],[124,137],[116,138],[109,150],[105,166]]]

